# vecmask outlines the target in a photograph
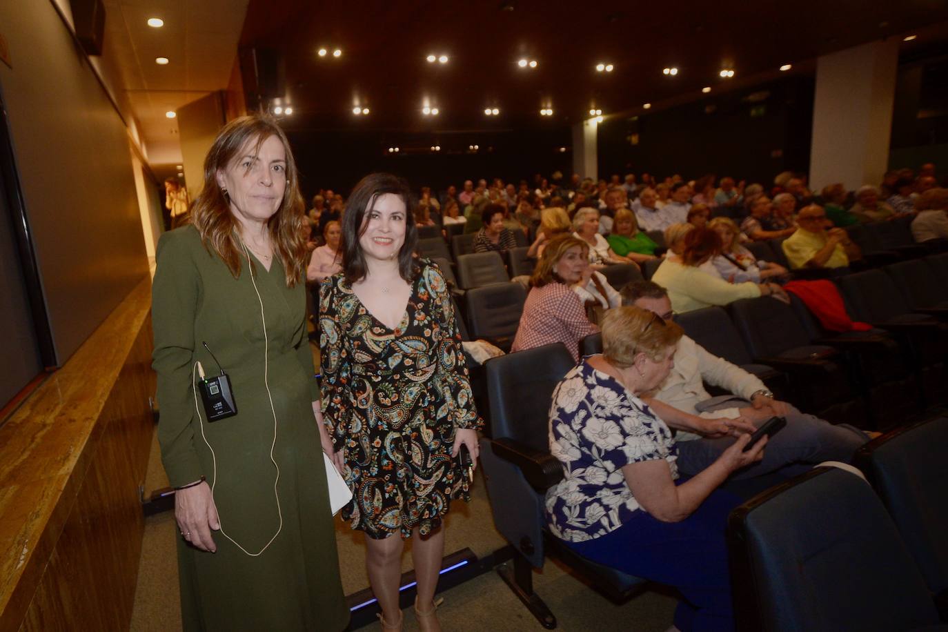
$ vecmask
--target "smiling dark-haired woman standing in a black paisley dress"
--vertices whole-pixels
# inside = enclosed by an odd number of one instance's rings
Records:
[[[342,219],[342,271],[322,282],[323,406],[339,470],[353,490],[342,510],[366,534],[366,567],[384,629],[400,629],[403,538],[412,546],[422,630],[440,630],[433,602],[444,556],[442,516],[469,500],[459,452],[478,456],[461,336],[438,267],[414,255],[410,189],[387,173],[356,185]]]

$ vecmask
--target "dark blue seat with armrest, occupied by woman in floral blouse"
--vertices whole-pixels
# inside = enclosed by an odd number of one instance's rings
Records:
[[[517,551],[513,569],[504,565],[498,573],[548,629],[556,627],[556,617],[534,592],[531,571],[542,568],[547,551],[616,601],[645,585],[641,578],[580,557],[546,531],[545,493],[563,477],[559,460],[549,452],[548,411],[556,384],[573,366],[560,343],[484,364],[493,436],[481,440],[484,478],[494,524]]]

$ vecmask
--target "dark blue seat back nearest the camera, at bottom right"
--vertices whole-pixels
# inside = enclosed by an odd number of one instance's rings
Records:
[[[948,630],[892,518],[860,477],[818,467],[735,509],[739,632]]]

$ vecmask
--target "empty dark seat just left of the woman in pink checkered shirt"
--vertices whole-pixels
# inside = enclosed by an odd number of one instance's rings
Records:
[[[475,287],[465,294],[468,333],[510,351],[520,325],[526,290],[520,283],[495,283]]]

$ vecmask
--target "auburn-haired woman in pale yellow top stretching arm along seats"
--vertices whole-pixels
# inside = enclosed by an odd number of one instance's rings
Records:
[[[777,296],[786,298],[775,283],[729,283],[720,278],[711,260],[720,253],[720,236],[711,228],[695,228],[684,236],[680,259],[665,259],[652,280],[668,290],[677,314],[711,305],[727,305],[740,298]],[[702,266],[704,266],[702,268]]]

